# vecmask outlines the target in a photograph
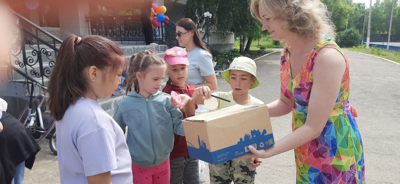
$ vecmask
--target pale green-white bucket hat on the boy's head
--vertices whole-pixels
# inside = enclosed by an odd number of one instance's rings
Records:
[[[224,77],[226,82],[228,82],[228,84],[230,84],[229,70],[242,70],[252,74],[256,78],[256,82],[254,82],[254,84],[250,86],[250,89],[257,87],[260,84],[256,76],[256,70],[257,70],[256,62],[254,62],[252,59],[248,57],[238,57],[234,59],[230,64],[229,69],[222,72],[222,76]]]

